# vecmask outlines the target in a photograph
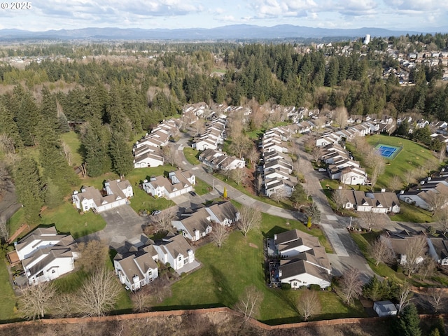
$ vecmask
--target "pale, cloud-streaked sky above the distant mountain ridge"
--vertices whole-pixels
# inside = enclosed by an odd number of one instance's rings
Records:
[[[440,31],[447,0],[0,0],[0,29],[213,28],[248,24]],[[446,29],[444,29],[446,30]]]

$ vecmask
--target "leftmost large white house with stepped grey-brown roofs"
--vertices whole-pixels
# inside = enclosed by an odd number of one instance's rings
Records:
[[[15,251],[30,285],[73,271],[74,260],[79,256],[73,237],[57,234],[54,226],[36,228],[15,243]]]

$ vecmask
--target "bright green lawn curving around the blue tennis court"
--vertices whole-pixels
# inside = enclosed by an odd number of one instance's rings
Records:
[[[403,146],[402,151],[398,153],[395,159],[386,160],[390,165],[386,165],[384,174],[379,176],[377,183],[378,187],[388,188],[388,182],[391,181],[393,176],[402,176],[404,172],[422,167],[423,165],[426,165],[428,161],[433,162],[435,167],[437,167],[437,159],[434,157],[433,153],[413,141],[399,137],[389,137],[387,135],[373,135],[366,139],[372,146],[375,146],[378,143],[398,147]]]

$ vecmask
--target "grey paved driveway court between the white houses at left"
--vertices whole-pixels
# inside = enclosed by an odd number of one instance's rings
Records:
[[[119,246],[125,240],[134,239],[143,233],[146,226],[144,218],[140,217],[129,205],[123,205],[101,213],[106,221],[106,227],[85,237],[77,239],[90,241],[93,239],[106,241],[110,246]]]

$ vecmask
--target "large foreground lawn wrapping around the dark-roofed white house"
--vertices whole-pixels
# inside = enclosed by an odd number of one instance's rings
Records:
[[[289,221],[289,225],[286,225],[283,218],[263,214],[260,230],[249,232],[247,237],[235,231],[221,248],[214,244],[198,248],[196,258],[202,262],[202,268],[174,283],[172,296],[162,302],[159,308],[235,307],[244,290],[253,285],[263,295],[258,316],[261,321],[269,324],[300,321],[295,302],[302,291],[269,288],[265,283],[263,269],[263,238],[293,228],[319,238],[322,235],[318,229],[308,231],[298,221]],[[359,306],[345,307],[334,293],[319,291],[318,295],[323,306],[318,318],[364,316],[363,309]]]

